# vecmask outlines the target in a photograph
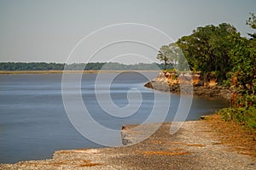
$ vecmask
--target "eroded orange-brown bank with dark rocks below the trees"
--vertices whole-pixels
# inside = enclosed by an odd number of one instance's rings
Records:
[[[192,81],[192,82],[191,82]],[[182,86],[181,83],[183,82]],[[205,86],[207,84],[207,86]],[[208,84],[203,82],[199,74],[192,74],[192,80],[189,76],[183,74],[181,77],[175,77],[174,73],[160,72],[152,81],[144,84],[146,88],[152,88],[166,93],[173,94],[193,94],[209,98],[221,98],[230,100],[235,92],[233,88],[224,88],[218,86],[216,82]]]

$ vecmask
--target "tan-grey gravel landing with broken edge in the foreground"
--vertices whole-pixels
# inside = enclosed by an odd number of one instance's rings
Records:
[[[164,123],[139,144],[60,150],[50,160],[1,164],[0,169],[256,169],[254,157],[231,151],[229,145],[218,141],[207,122],[185,122],[174,135],[169,133],[170,125]],[[152,126],[145,125],[141,132],[132,130],[135,126],[126,126],[124,141],[131,143]]]

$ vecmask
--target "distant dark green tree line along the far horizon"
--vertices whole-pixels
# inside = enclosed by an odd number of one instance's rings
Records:
[[[2,62],[0,63],[0,71],[62,71],[64,70],[158,70],[164,69],[164,64],[158,63],[138,63],[134,65],[125,65],[121,63],[107,63],[107,62],[95,62],[95,63],[73,63],[65,65],[64,63],[46,63],[46,62]],[[172,65],[168,65],[169,69],[172,69]]]

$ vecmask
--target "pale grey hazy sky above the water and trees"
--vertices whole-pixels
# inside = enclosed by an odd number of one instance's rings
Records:
[[[0,0],[0,62],[147,63],[198,26],[247,36],[249,13],[256,0]]]

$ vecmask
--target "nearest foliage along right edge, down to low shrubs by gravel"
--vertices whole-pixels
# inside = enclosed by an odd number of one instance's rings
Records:
[[[256,29],[254,14],[247,20],[247,25]],[[233,83],[236,87],[236,107],[220,110],[219,114],[225,121],[240,122],[246,127],[256,129],[256,34],[248,35],[252,38],[241,37],[238,32],[229,36],[233,47],[229,55],[233,65]]]

